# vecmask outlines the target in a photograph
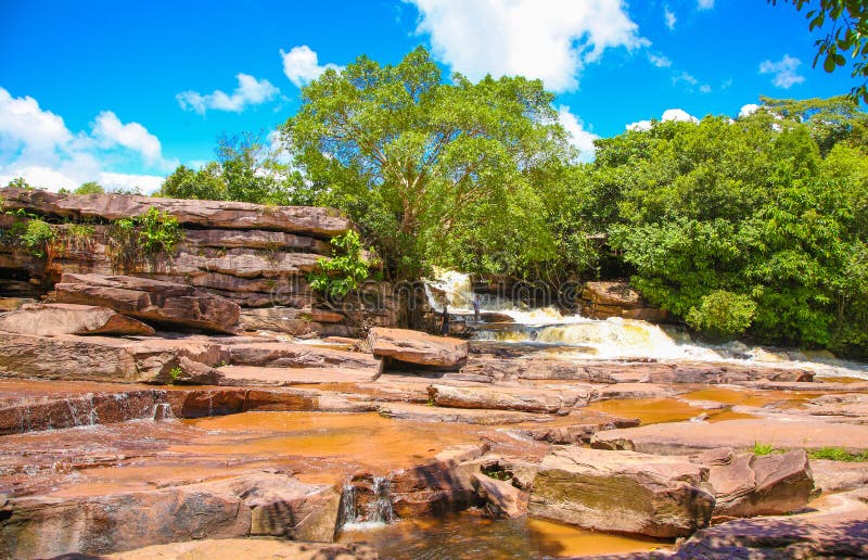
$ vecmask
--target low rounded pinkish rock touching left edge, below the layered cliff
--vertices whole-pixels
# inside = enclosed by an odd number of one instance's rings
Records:
[[[0,331],[40,335],[154,334],[152,327],[107,307],[75,304],[25,305],[0,316]]]

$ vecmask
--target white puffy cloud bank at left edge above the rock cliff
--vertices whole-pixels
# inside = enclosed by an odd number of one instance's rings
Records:
[[[113,161],[141,161],[145,169],[163,171],[177,165],[163,156],[159,140],[139,123],[123,123],[103,111],[90,131],[73,132],[60,115],[43,110],[31,97],[13,98],[0,88],[0,186],[15,177],[56,191],[87,181],[107,188],[155,190],[161,175],[113,173]]]

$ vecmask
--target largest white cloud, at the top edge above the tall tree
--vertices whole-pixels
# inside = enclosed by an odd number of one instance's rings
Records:
[[[623,0],[405,0],[434,56],[471,79],[521,75],[573,91],[609,48],[647,47]]]

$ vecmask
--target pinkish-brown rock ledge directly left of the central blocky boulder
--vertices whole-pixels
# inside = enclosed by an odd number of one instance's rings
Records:
[[[347,368],[371,371],[382,368],[379,359],[369,354],[323,348],[291,342],[228,342],[225,346],[233,366],[268,368]]]

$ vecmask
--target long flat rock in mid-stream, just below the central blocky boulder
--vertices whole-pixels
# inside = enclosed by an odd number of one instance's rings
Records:
[[[451,408],[520,410],[524,412],[567,413],[573,407],[587,405],[592,390],[551,392],[534,387],[463,387],[431,385],[429,402]]]

